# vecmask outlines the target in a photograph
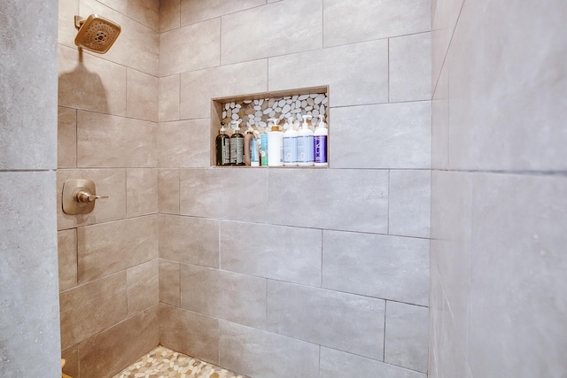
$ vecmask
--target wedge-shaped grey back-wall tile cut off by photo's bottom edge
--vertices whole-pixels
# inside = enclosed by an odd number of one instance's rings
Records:
[[[361,377],[380,378],[426,378],[426,374],[417,373],[412,370],[398,366],[385,364],[375,359],[366,359],[361,356],[335,351],[333,349],[321,348],[320,377],[339,377],[345,372],[355,372]]]

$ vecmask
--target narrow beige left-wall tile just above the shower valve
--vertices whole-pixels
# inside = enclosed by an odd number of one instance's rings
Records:
[[[77,111],[58,107],[57,166],[77,166]]]

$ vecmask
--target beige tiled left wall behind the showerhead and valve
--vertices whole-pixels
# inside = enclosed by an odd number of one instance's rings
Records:
[[[121,34],[105,55],[79,52],[74,15]],[[159,2],[60,0],[58,243],[66,374],[115,374],[159,343]],[[61,212],[64,181],[95,181],[94,212]]]

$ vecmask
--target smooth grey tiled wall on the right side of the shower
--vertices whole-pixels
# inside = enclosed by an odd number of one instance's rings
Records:
[[[430,374],[565,376],[567,4],[432,4]]]

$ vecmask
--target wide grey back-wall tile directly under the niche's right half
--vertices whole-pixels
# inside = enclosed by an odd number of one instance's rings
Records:
[[[269,170],[268,197],[270,222],[387,233],[386,171]]]

